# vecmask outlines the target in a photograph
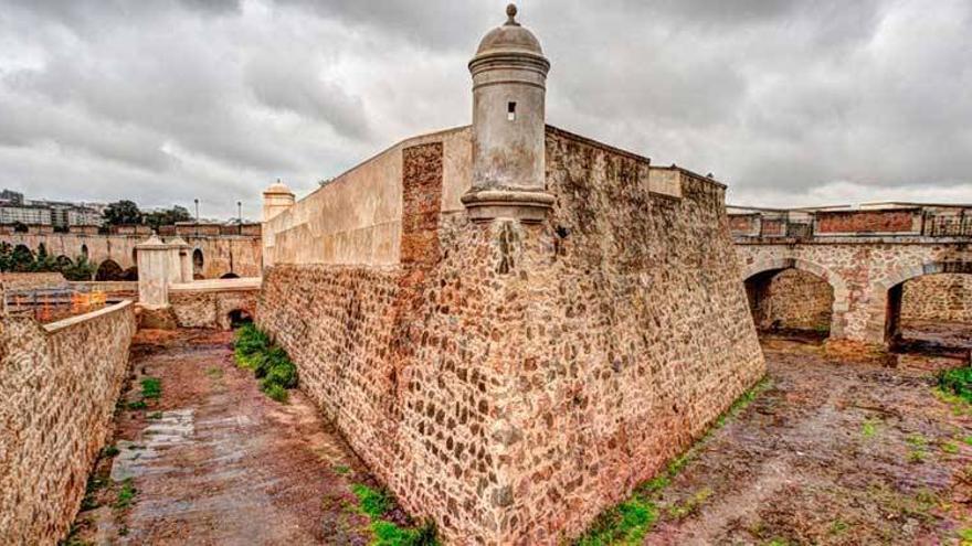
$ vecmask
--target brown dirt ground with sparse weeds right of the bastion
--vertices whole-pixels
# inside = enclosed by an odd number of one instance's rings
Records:
[[[673,480],[645,544],[959,544],[972,529],[972,416],[931,387],[936,367],[959,363],[764,349],[772,386]]]

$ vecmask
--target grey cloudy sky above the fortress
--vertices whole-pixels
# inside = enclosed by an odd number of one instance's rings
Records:
[[[970,0],[522,0],[548,121],[729,201],[972,202]],[[494,0],[0,0],[0,188],[258,216],[471,119]]]

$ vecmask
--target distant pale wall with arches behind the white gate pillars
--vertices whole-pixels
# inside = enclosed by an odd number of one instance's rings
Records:
[[[130,270],[136,267],[135,246],[145,235],[89,235],[76,233],[12,233],[0,235],[0,243],[23,245],[36,254],[44,245],[47,254],[75,260],[86,256],[96,269]],[[199,278],[260,277],[262,244],[254,235],[182,235],[192,247]]]

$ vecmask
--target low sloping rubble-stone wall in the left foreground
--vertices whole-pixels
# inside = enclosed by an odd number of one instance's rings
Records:
[[[130,302],[46,326],[0,319],[0,544],[56,544],[110,430]]]

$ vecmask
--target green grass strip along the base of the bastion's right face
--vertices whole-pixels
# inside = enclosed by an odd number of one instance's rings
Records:
[[[757,383],[752,388],[743,393],[720,415],[706,435],[682,456],[675,458],[664,472],[640,484],[626,501],[602,513],[594,520],[588,532],[574,542],[577,546],[608,546],[608,545],[636,545],[641,544],[645,535],[651,531],[659,515],[658,501],[664,490],[672,480],[695,458],[698,450],[706,443],[712,433],[735,419],[746,409],[760,394],[770,388],[768,377]],[[685,517],[696,513],[699,507],[712,495],[712,490],[705,488],[680,504],[667,508],[669,517]]]

